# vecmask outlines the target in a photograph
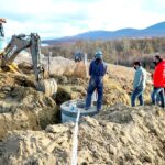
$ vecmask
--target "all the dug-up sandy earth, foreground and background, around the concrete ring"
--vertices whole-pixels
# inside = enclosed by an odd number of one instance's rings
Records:
[[[22,75],[0,72],[0,165],[68,165],[74,124],[62,123],[61,105],[85,99],[89,78],[81,64],[55,57],[51,78],[58,89],[47,97],[35,89],[31,67],[20,63]],[[153,106],[131,108],[134,70],[110,64],[108,69],[102,111],[79,124],[78,165],[164,164],[165,112]],[[144,94],[146,105],[151,89]]]

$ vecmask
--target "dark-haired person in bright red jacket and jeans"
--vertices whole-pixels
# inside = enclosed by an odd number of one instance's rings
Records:
[[[153,92],[152,103],[157,103],[157,98],[160,97],[161,106],[165,108],[165,96],[164,96],[164,88],[165,88],[165,61],[161,57],[161,55],[154,56],[154,64],[155,70],[153,74]]]

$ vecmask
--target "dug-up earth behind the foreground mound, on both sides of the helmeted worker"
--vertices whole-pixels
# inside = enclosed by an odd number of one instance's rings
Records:
[[[89,78],[86,78],[82,63],[54,57],[51,78],[58,85],[57,94],[46,97],[35,89],[35,78],[31,59],[16,58],[22,75],[0,72],[0,140],[8,131],[44,130],[48,124],[61,123],[61,105],[68,100],[85,99]],[[46,62],[45,62],[46,65]],[[109,66],[110,74],[105,78],[105,108],[122,102],[130,105],[132,78],[123,76],[121,69]],[[125,69],[133,75],[132,69]],[[113,73],[113,74],[111,74]]]

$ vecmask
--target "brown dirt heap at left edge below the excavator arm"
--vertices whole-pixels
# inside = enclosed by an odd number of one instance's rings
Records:
[[[26,77],[0,73],[0,140],[11,130],[42,130],[57,122],[57,106]]]

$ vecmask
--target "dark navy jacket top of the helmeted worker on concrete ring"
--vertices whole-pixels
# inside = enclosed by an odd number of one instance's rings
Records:
[[[107,72],[107,65],[100,61],[99,63],[95,59],[90,63],[89,75],[94,77],[103,77]]]

